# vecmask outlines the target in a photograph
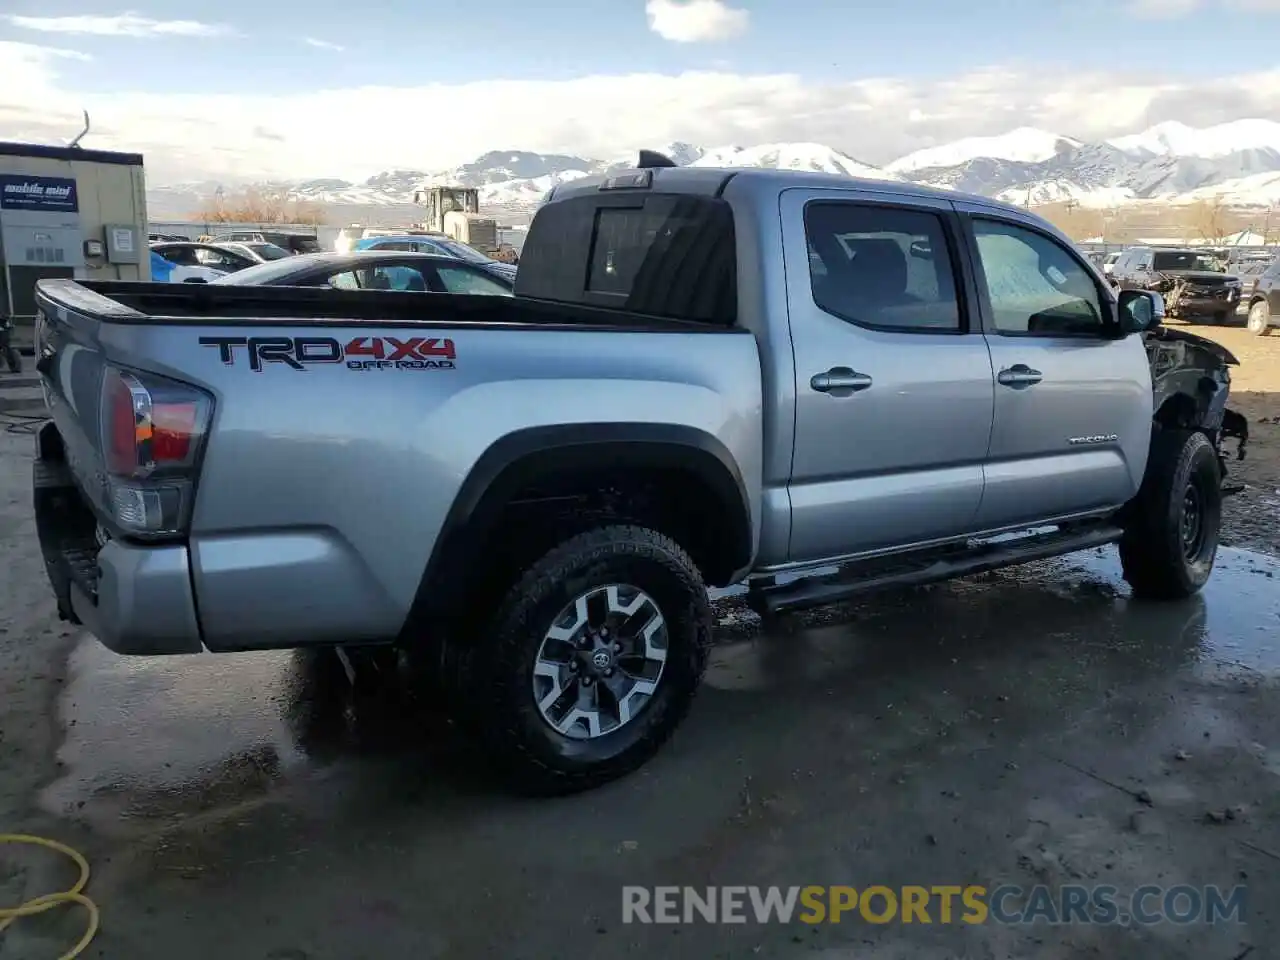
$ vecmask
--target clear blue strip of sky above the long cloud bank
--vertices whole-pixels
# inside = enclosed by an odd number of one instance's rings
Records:
[[[1260,0],[1253,0],[1258,4]],[[1265,0],[1261,0],[1265,3]],[[799,72],[818,79],[860,76],[945,77],[998,63],[1044,69],[1152,68],[1161,73],[1204,69],[1201,58],[1170,58],[1188,28],[1243,37],[1275,13],[1206,4],[1183,17],[1152,18],[1103,0],[739,0],[750,27],[710,44],[672,44],[646,28],[644,5],[628,0],[223,0],[204,5],[110,0],[8,0],[17,17],[114,17],[124,12],[156,20],[193,18],[241,36],[100,37],[23,29],[0,22],[0,38],[74,41],[77,50],[110,60],[118,83],[131,90],[228,92],[325,83],[417,84],[506,77],[567,79],[594,73],[663,73],[731,69]],[[1169,0],[1178,12],[1187,0]],[[1280,4],[1275,5],[1280,10]],[[370,8],[375,8],[376,13]],[[1117,42],[1116,28],[1140,27],[1142,42]],[[306,46],[302,37],[338,44],[342,51]],[[339,55],[340,54],[340,55]],[[65,73],[92,82],[99,68],[76,64]],[[320,74],[317,77],[317,73]]]

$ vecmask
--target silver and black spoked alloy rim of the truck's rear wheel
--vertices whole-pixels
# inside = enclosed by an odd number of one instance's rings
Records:
[[[637,586],[595,586],[567,603],[534,662],[534,703],[572,740],[621,730],[653,699],[667,666],[667,621]]]

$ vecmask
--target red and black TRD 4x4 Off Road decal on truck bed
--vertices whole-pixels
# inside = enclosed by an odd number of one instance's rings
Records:
[[[356,337],[342,343],[332,337],[201,337],[201,347],[218,347],[227,366],[236,364],[237,347],[248,356],[248,369],[268,364],[306,370],[311,364],[346,364],[348,370],[454,370],[453,340],[436,337]]]

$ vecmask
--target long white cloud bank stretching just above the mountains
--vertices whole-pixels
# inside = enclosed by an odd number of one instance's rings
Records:
[[[494,148],[608,159],[672,141],[817,141],[883,164],[1021,125],[1096,140],[1174,119],[1192,125],[1243,116],[1280,120],[1280,68],[1188,81],[1033,64],[927,81],[810,82],[794,74],[705,72],[140,93],[113,88],[110,70],[83,86],[69,83],[59,72],[76,56],[0,42],[0,140],[65,142],[87,109],[93,129],[84,146],[145,154],[154,183],[360,179],[396,168],[444,169]],[[207,77],[204,88],[216,91],[216,79]],[[404,118],[445,118],[449,136],[439,136],[438,122]]]

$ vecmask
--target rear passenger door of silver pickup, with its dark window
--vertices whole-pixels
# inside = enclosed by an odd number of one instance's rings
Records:
[[[946,200],[782,195],[795,355],[792,562],[966,532],[991,436],[991,360]]]

